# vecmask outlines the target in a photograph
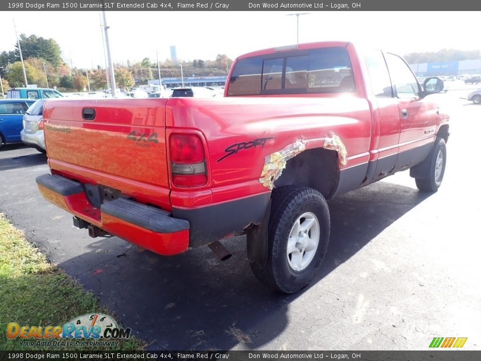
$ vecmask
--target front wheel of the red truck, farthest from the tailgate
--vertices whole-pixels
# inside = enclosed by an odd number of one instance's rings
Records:
[[[446,142],[443,138],[436,138],[434,147],[429,154],[429,176],[427,178],[415,178],[416,187],[422,192],[436,192],[441,186],[444,170],[446,169]],[[438,159],[441,162],[438,163]]]

